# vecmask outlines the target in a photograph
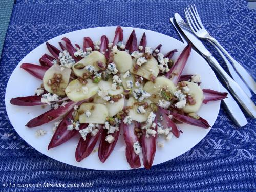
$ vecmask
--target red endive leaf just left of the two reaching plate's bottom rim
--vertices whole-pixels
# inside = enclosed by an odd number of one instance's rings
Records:
[[[105,141],[106,136],[108,135],[108,130],[103,129],[102,131],[102,136],[101,136],[101,140],[99,143],[99,160],[104,163],[106,161],[106,159],[108,159],[108,157],[110,156],[110,154],[112,153],[112,151],[114,150],[115,146],[116,146],[116,142],[118,140],[119,137],[119,131],[116,131],[115,133],[111,134],[115,140],[112,143],[109,143],[107,141]]]

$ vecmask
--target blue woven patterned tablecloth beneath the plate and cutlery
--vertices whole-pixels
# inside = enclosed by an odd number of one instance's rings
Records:
[[[255,191],[255,120],[248,118],[246,127],[236,129],[222,107],[209,134],[187,153],[151,170],[122,172],[82,169],[50,159],[20,138],[8,120],[4,104],[8,78],[42,42],[77,29],[112,25],[150,29],[179,39],[168,19],[175,12],[184,16],[183,8],[190,3],[197,5],[212,35],[255,78],[256,11],[248,10],[245,1],[17,0],[0,65],[0,191]],[[44,182],[92,182],[93,187],[4,187],[5,183]]]

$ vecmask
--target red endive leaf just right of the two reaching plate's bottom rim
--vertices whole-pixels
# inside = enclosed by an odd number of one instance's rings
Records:
[[[163,116],[163,120],[160,121],[161,125],[166,129],[172,127],[172,133],[175,137],[180,137],[180,131],[178,130],[176,124],[168,117],[170,112],[168,110],[159,108],[161,115]]]

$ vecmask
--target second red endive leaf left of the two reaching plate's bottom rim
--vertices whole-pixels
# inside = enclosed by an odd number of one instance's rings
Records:
[[[80,137],[79,143],[76,147],[76,154],[75,154],[76,161],[80,162],[81,160],[88,157],[92,153],[102,130],[103,130],[102,128],[99,129],[98,133],[95,136],[88,134],[86,136],[85,141],[83,140],[82,137]]]

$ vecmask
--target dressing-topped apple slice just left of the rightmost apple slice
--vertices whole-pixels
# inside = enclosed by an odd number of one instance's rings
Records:
[[[159,95],[163,87],[166,87],[172,94],[176,91],[176,86],[173,81],[164,76],[157,77],[155,83],[147,81],[143,90],[151,94],[149,99],[152,102],[157,103],[160,99]]]

